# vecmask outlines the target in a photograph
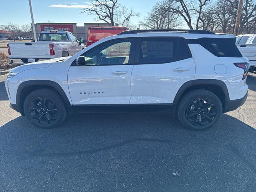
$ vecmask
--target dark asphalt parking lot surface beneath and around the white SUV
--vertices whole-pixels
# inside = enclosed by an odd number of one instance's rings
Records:
[[[1,192],[255,191],[255,74],[246,103],[202,132],[162,114],[76,114],[35,128],[9,108],[5,78],[0,72]]]

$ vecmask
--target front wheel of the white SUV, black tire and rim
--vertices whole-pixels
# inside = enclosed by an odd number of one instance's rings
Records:
[[[28,121],[40,128],[55,128],[67,116],[65,104],[58,92],[48,88],[30,93],[23,107]]]

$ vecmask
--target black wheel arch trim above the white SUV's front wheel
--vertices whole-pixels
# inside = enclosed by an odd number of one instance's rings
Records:
[[[17,90],[17,94],[16,94],[16,107],[15,110],[20,112],[21,114],[23,114],[23,107],[21,106],[21,94],[22,94],[22,90],[24,90],[24,88],[28,87],[28,86],[50,86],[52,88],[54,88],[62,97],[64,103],[66,104],[66,107],[68,108],[68,111],[70,110],[70,108],[72,108],[72,105],[70,104],[70,101],[68,100],[68,97],[66,96],[66,93],[64,92],[64,90],[62,89],[62,87],[54,82],[54,81],[50,81],[50,80],[28,80],[28,81],[24,81],[22,82],[19,86],[18,86],[18,90]]]

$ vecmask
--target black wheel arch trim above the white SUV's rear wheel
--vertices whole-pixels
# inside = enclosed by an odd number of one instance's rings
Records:
[[[226,102],[230,101],[229,94],[228,94],[228,88],[227,88],[226,84],[223,81],[217,80],[217,79],[196,79],[196,80],[187,81],[180,87],[176,96],[174,97],[173,103],[177,104],[179,102],[180,97],[182,96],[182,94],[184,94],[184,92],[188,88],[190,88],[191,86],[195,86],[195,85],[216,85],[216,86],[219,86],[220,88],[222,88],[222,90],[225,94],[225,101]]]

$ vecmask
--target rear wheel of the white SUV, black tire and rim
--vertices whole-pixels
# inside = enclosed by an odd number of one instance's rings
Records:
[[[205,130],[214,125],[222,114],[222,103],[214,93],[197,89],[184,94],[179,101],[177,116],[191,130]]]

